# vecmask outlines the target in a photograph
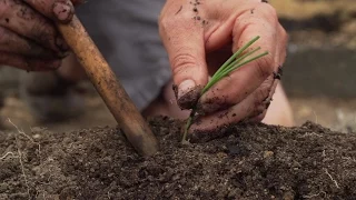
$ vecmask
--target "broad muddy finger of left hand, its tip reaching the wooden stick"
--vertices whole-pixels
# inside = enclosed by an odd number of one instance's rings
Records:
[[[22,1],[0,1],[0,26],[51,49],[59,57],[69,50],[53,23]]]

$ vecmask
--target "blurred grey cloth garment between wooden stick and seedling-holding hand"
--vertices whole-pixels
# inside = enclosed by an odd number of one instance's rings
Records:
[[[88,1],[77,14],[126,91],[142,110],[170,80],[158,33],[165,0]]]

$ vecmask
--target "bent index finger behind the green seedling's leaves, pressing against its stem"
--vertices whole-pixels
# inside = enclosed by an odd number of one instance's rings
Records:
[[[264,8],[260,10],[256,8],[256,14],[251,16],[248,11],[236,20],[233,30],[233,51],[237,51],[254,37],[259,36],[260,39],[247,51],[260,47],[261,50],[256,54],[265,51],[268,51],[268,54],[231,72],[229,77],[221,79],[206,92],[199,100],[199,108],[205,113],[224,110],[239,103],[273,74],[279,66],[279,52],[276,53],[276,46],[279,40],[278,21],[275,18],[265,18],[261,10]],[[260,14],[257,14],[258,12]]]

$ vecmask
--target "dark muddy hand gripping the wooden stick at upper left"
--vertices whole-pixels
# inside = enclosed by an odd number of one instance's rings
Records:
[[[57,69],[69,48],[53,20],[70,21],[73,3],[78,0],[0,0],[0,66]]]

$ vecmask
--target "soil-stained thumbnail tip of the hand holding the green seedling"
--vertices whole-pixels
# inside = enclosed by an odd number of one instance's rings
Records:
[[[178,106],[181,109],[192,108],[199,99],[201,89],[200,86],[196,86],[194,80],[182,81],[176,89]]]

